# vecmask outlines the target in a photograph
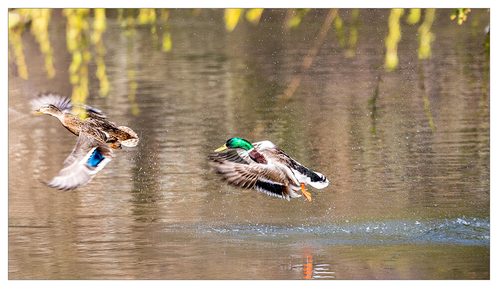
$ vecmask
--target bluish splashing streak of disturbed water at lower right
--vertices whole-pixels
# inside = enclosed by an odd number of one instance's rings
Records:
[[[196,226],[199,233],[215,237],[272,242],[307,242],[321,245],[490,245],[489,218],[387,220],[324,225]]]

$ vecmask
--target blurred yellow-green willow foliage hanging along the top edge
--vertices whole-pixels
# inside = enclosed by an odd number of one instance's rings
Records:
[[[109,9],[107,9],[109,10]],[[88,85],[89,85],[89,75],[88,75],[88,65],[93,60],[96,64],[95,78],[99,81],[99,94],[105,96],[109,93],[111,87],[109,84],[109,79],[106,72],[106,64],[104,57],[106,55],[105,49],[105,38],[102,34],[106,30],[106,9],[63,9],[63,15],[66,17],[66,41],[67,49],[72,55],[72,63],[69,67],[70,71],[70,82],[73,85],[72,97],[73,100],[79,102],[85,102],[88,96]],[[198,15],[203,9],[193,9],[192,15]],[[226,31],[233,31],[240,21],[244,18],[256,25],[261,21],[260,19],[266,19],[265,15],[271,18],[274,15],[275,10],[269,9],[268,14],[265,14],[266,10],[262,8],[226,8],[220,9],[223,16],[224,26]],[[311,16],[310,11],[312,9],[282,9],[281,15],[283,16],[282,21],[284,22],[287,29],[297,29],[300,23],[304,20],[307,21],[317,21]],[[419,41],[418,57],[420,59],[428,59],[431,57],[431,43],[435,40],[435,35],[431,32],[431,27],[436,19],[436,9],[420,9],[412,8],[406,9],[406,17],[403,20],[405,14],[405,9],[381,9],[378,13],[389,13],[387,22],[387,34],[385,38],[385,51],[383,58],[383,66],[386,71],[394,71],[398,65],[397,56],[397,45],[401,39],[401,28],[402,21],[408,24],[416,25],[423,19],[419,24],[417,33],[414,35],[404,34],[403,37],[413,37],[417,38]],[[56,71],[53,65],[54,55],[53,49],[50,45],[48,25],[50,22],[50,15],[52,9],[9,9],[8,11],[8,43],[9,43],[9,63],[12,62],[13,66],[16,67],[15,73],[24,79],[28,78],[27,64],[24,59],[23,54],[23,44],[21,41],[21,34],[24,30],[29,29],[29,31],[35,36],[36,41],[39,43],[39,49],[45,57],[45,70],[47,72],[48,78],[53,78]],[[331,9],[332,11],[332,9]],[[333,17],[333,22],[328,23],[331,18],[327,18],[323,21],[322,29],[318,35],[313,37],[319,38],[325,35],[321,35],[325,31],[328,33],[328,27],[332,26],[335,30],[337,40],[339,44],[345,48],[345,56],[353,57],[356,50],[356,42],[358,40],[358,27],[360,26],[361,17],[359,16],[359,9],[347,9],[347,10],[334,10],[337,11],[336,15]],[[476,26],[482,17],[484,9],[479,10],[476,18],[472,22],[473,26]],[[487,10],[489,13],[489,9]],[[471,13],[471,9],[459,8],[456,9],[450,15],[439,15],[441,17],[449,17],[451,19],[457,19],[457,23],[462,25],[466,20],[467,16]],[[162,50],[165,52],[173,49],[174,39],[171,35],[169,27],[169,10],[168,9],[155,9],[155,8],[140,8],[140,9],[116,9],[112,13],[115,15],[117,21],[121,23],[124,27],[124,33],[133,33],[134,25],[147,25],[153,36],[154,47],[157,50]],[[329,13],[330,14],[330,13]],[[346,16],[348,21],[345,22],[343,18]],[[244,17],[245,16],[245,17]],[[277,18],[277,21],[279,19]],[[93,30],[90,30],[90,25],[92,25]],[[324,27],[327,26],[327,27]],[[488,26],[489,27],[489,26]],[[162,34],[158,33],[162,31]],[[346,33],[348,31],[348,33]],[[347,35],[347,36],[346,36]],[[484,51],[487,53],[489,59],[489,28],[488,36],[483,39]],[[315,38],[315,39],[316,39]],[[310,57],[305,57],[303,61],[303,67],[309,67],[309,64],[313,60],[313,55],[316,55],[314,51],[314,45],[310,50],[308,55]],[[134,103],[136,82],[134,80],[134,72],[132,67],[128,67],[128,76],[130,83],[130,99],[132,104]],[[292,86],[292,83],[290,84]],[[286,91],[285,97],[289,98],[292,93]],[[135,110],[137,113],[138,111]]]

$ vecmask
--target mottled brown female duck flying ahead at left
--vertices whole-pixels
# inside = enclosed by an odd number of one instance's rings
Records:
[[[132,129],[104,121],[108,117],[98,109],[78,104],[87,113],[87,118],[82,119],[78,115],[70,114],[73,103],[66,97],[48,94],[40,95],[31,101],[33,105],[40,102],[48,104],[34,110],[34,114],[52,115],[59,119],[67,130],[78,136],[73,151],[62,163],[62,169],[46,183],[57,187],[58,190],[72,190],[90,182],[114,156],[106,143],[111,143],[114,149],[121,149],[121,144],[134,147],[139,141]]]

